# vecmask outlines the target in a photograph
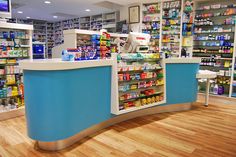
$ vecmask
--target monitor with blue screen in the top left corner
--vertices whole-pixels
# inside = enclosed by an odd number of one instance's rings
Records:
[[[11,18],[11,0],[0,0],[0,18]]]

